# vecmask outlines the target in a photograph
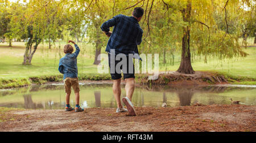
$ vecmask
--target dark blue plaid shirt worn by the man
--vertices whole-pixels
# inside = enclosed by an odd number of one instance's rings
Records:
[[[137,45],[141,44],[143,31],[137,19],[133,16],[116,15],[105,21],[101,30],[109,32],[110,27],[114,29],[106,46],[108,53],[110,49],[115,49],[115,54],[139,54]]]

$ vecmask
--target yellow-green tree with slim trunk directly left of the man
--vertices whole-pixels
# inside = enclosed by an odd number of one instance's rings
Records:
[[[89,37],[89,43],[95,46],[95,56],[93,64],[100,64],[98,57],[101,54],[101,48],[106,46],[108,38],[101,31],[101,24],[106,20],[113,18],[116,7],[121,5],[121,2],[115,1],[82,1],[82,10],[84,20],[88,26],[86,36]]]

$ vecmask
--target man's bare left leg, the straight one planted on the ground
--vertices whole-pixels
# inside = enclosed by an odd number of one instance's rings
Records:
[[[122,109],[122,103],[121,103],[121,79],[113,80],[113,93],[115,97],[115,101],[117,101],[117,107],[118,109]]]

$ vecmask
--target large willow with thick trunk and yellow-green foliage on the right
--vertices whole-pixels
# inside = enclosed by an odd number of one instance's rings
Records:
[[[229,32],[229,19],[238,15],[242,7],[239,0],[182,0],[162,1],[168,11],[180,15],[183,20],[177,27],[182,27],[181,40],[181,62],[177,72],[195,73],[191,64],[191,47],[197,54],[213,55],[218,58],[233,58],[234,56],[244,57],[244,53],[238,42],[241,35],[239,27],[233,34]],[[217,25],[214,14],[225,20],[225,28]],[[170,15],[168,15],[170,16]],[[237,17],[237,21],[242,18]],[[239,23],[238,22],[238,23]]]

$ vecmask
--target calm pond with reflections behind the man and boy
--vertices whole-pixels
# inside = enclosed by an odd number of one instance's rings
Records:
[[[117,107],[111,84],[81,84],[80,104],[84,108]],[[125,97],[122,85],[121,97]],[[230,104],[230,98],[243,105],[255,105],[256,86],[210,85],[210,86],[136,86],[132,102],[138,107],[189,106],[195,103],[205,105]],[[71,105],[75,106],[75,94],[71,93]],[[16,89],[0,89],[0,106],[23,109],[64,109],[65,92],[63,84],[33,85]]]

